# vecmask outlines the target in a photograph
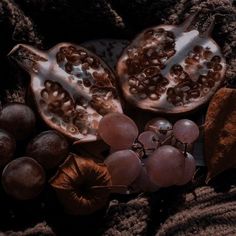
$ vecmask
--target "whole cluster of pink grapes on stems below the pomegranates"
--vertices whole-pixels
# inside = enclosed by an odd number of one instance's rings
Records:
[[[153,192],[160,187],[184,185],[194,175],[195,159],[187,148],[198,138],[199,128],[191,120],[181,119],[172,125],[157,117],[139,133],[128,116],[109,113],[100,121],[98,134],[110,145],[105,164],[113,185]]]

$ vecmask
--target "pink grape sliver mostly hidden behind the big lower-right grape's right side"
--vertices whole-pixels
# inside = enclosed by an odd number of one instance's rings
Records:
[[[191,181],[195,173],[195,170],[196,170],[196,161],[194,157],[187,152],[187,156],[185,158],[183,176],[181,180],[177,183],[177,185],[184,185],[187,184],[189,181]]]

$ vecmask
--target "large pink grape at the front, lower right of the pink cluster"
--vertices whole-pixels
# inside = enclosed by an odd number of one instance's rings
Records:
[[[175,185],[183,175],[185,157],[177,148],[170,145],[159,147],[146,160],[150,180],[160,186]]]

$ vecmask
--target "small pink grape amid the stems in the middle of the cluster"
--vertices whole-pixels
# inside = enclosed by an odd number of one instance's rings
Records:
[[[153,131],[144,131],[138,136],[138,141],[142,144],[147,155],[153,153],[158,146],[157,134]]]

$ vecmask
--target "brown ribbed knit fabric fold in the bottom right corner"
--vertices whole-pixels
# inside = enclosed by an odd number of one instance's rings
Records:
[[[157,230],[164,235],[236,235],[236,188],[216,193],[201,187],[186,195],[186,201]]]

